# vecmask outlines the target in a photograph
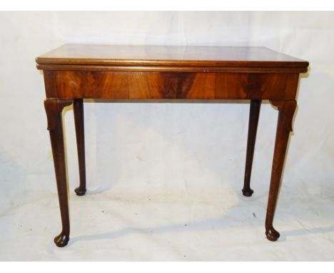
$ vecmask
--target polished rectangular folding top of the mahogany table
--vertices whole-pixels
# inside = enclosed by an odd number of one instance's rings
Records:
[[[307,68],[308,61],[265,47],[65,44],[37,64],[99,66],[225,66]]]

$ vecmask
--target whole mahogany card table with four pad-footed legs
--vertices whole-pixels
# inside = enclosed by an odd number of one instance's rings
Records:
[[[36,58],[44,72],[44,106],[51,138],[61,211],[58,247],[69,242],[70,221],[61,114],[73,104],[80,184],[86,193],[83,99],[112,102],[219,102],[249,100],[250,116],[243,195],[251,197],[251,169],[262,100],[278,109],[273,165],[268,194],[265,235],[280,234],[273,227],[288,138],[292,131],[299,75],[308,61],[265,47],[121,46],[66,44]],[[219,143],[217,143],[219,145]]]

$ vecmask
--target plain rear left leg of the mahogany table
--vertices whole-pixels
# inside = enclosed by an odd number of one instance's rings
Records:
[[[74,111],[74,124],[76,126],[76,146],[78,148],[78,161],[79,161],[79,174],[80,174],[80,184],[79,187],[74,189],[74,192],[76,192],[76,195],[82,196],[86,194],[86,162],[85,162],[85,134],[84,134],[84,121],[83,121],[83,99],[74,99],[73,111]]]

